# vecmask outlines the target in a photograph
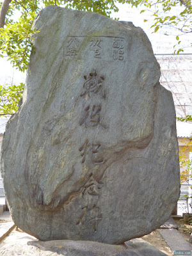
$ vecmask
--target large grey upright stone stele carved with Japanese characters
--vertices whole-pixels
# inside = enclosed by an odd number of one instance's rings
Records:
[[[179,198],[172,94],[142,29],[49,6],[36,17],[1,170],[15,224],[42,240],[120,244]]]

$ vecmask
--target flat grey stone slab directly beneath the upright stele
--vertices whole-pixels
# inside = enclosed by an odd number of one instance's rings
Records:
[[[28,246],[35,246],[40,251],[49,251],[54,255],[65,256],[164,256],[151,244],[137,238],[124,244],[113,245],[92,241],[29,241]],[[46,253],[47,254],[47,253]],[[44,254],[42,254],[44,255]]]

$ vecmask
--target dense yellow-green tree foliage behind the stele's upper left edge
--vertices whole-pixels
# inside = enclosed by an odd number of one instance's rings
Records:
[[[97,12],[109,17],[111,10],[117,12],[115,1],[86,0],[86,1],[62,1],[62,0],[4,0],[1,3],[0,12],[0,54],[8,56],[12,65],[20,71],[27,69],[31,53],[31,30],[36,14],[45,6],[59,5],[75,8],[87,12]],[[20,15],[14,20],[14,15]]]

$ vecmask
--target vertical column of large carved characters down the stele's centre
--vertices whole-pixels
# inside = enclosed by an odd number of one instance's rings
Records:
[[[95,58],[100,58],[100,42],[101,40],[99,38],[94,38],[92,40],[90,50],[95,51]],[[106,93],[102,88],[104,77],[98,76],[97,72],[94,70],[88,76],[84,76],[84,79],[85,82],[83,84],[83,92],[81,92],[80,97],[83,97],[83,99],[85,98],[85,100],[92,97],[93,103],[88,104],[88,106],[83,109],[83,114],[79,119],[79,125],[84,125],[85,128],[97,127],[97,125],[100,124],[102,102],[98,102],[98,98],[100,97],[96,97],[96,102],[95,94],[100,93],[102,96],[101,99],[106,99]],[[82,157],[81,163],[84,164],[85,161],[89,161],[93,164],[102,164],[104,159],[102,156],[100,156],[100,147],[100,143],[92,143],[88,140],[84,141],[83,145],[79,147]],[[86,223],[90,223],[93,225],[95,232],[97,232],[97,221],[102,220],[100,208],[96,206],[101,186],[102,184],[94,179],[88,180],[87,184],[84,185],[82,195],[86,206],[82,207],[83,212],[77,221],[77,225],[85,225]]]

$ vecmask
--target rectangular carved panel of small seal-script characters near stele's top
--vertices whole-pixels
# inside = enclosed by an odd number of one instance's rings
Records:
[[[65,57],[90,58],[109,61],[126,60],[126,42],[122,37],[111,36],[67,36]]]

